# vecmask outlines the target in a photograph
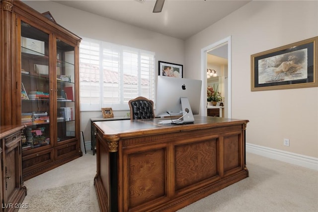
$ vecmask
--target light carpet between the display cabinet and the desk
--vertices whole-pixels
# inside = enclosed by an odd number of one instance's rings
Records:
[[[24,182],[27,209],[19,212],[99,212],[94,176],[96,155],[82,157]]]

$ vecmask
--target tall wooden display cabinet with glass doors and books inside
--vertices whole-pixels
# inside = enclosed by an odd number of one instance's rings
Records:
[[[82,155],[80,38],[21,1],[1,0],[2,17],[1,125],[26,125],[27,180]]]

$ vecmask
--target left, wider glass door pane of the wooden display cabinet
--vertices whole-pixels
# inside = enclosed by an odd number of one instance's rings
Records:
[[[51,144],[49,82],[49,34],[21,21],[22,151]]]

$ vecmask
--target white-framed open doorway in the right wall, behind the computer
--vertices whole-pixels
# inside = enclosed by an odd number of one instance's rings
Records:
[[[218,62],[220,58],[223,59],[220,60],[223,61],[222,65],[217,64],[220,63]],[[214,61],[214,59],[217,61]],[[224,61],[226,61],[227,64],[225,64]],[[224,117],[231,118],[231,36],[201,49],[201,80],[203,82],[201,92],[201,98],[203,99],[203,104],[201,106],[201,115],[203,116],[207,116],[207,70],[211,67],[213,68],[214,66],[222,67],[218,69],[218,78],[217,80],[215,78],[213,83],[218,83],[221,88],[221,90],[219,89],[219,91],[221,91],[222,101],[224,103]]]

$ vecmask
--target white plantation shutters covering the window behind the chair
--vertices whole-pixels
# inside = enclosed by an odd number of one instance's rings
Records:
[[[155,100],[155,53],[89,38],[79,50],[81,111],[129,110],[138,96]]]

